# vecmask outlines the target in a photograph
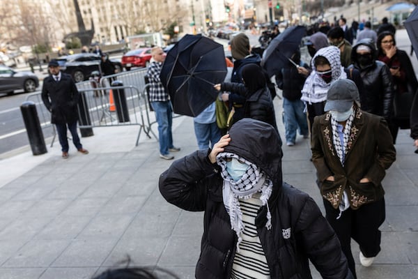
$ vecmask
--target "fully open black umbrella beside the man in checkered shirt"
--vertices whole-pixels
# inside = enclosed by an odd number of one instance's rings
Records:
[[[226,76],[224,47],[201,35],[187,34],[169,50],[160,79],[167,89],[173,111],[197,116],[218,92],[213,85]]]

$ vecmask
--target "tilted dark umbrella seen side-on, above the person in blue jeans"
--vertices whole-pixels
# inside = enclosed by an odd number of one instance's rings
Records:
[[[288,27],[270,42],[261,59],[261,66],[265,68],[269,77],[287,65],[288,59],[299,50],[300,42],[306,33],[307,29],[300,25]]]

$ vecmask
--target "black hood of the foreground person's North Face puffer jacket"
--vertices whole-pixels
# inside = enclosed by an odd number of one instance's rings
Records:
[[[255,119],[241,119],[229,130],[231,142],[225,152],[235,153],[260,167],[274,185],[281,186],[281,139],[268,123]]]

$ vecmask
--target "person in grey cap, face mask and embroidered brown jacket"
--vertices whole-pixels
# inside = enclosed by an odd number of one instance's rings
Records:
[[[351,80],[336,80],[327,92],[326,114],[312,129],[312,162],[317,171],[326,218],[355,276],[350,240],[360,248],[362,266],[380,252],[379,227],[385,220],[382,179],[396,158],[387,122],[363,112]]]

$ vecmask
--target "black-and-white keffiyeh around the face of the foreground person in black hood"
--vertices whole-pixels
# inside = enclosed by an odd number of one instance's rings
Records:
[[[234,181],[229,176],[226,169],[226,158],[236,158],[241,162],[249,165],[245,174],[242,175],[240,180]],[[260,200],[263,206],[267,206],[267,223],[265,227],[271,229],[271,213],[268,206],[268,199],[272,194],[273,183],[268,176],[261,171],[256,165],[245,160],[235,153],[223,152],[217,155],[217,164],[221,167],[221,176],[224,179],[222,186],[222,195],[224,199],[224,206],[226,211],[229,213],[231,221],[231,228],[235,231],[238,236],[237,249],[239,251],[239,245],[242,241],[242,231],[244,230],[244,223],[242,222],[242,211],[240,208],[240,202],[238,199],[249,199],[255,193],[261,193]]]

